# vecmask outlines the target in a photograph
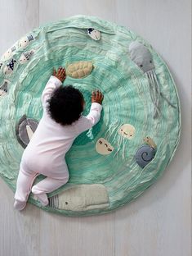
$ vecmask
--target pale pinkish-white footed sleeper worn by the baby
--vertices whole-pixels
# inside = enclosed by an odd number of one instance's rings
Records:
[[[81,116],[69,126],[61,126],[47,113],[47,99],[54,89],[62,85],[56,76],[51,75],[42,92],[42,119],[29,141],[20,162],[20,171],[16,183],[15,208],[25,208],[30,191],[43,205],[48,204],[47,193],[58,189],[69,180],[69,171],[65,162],[65,153],[70,149],[74,139],[83,131],[90,129],[100,120],[102,106],[92,103],[87,117]],[[36,176],[47,176],[33,185]],[[32,187],[33,185],[33,187]],[[32,187],[32,188],[31,188]]]

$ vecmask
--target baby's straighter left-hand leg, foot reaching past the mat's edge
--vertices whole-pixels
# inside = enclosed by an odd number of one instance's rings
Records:
[[[38,173],[29,170],[23,162],[20,163],[20,171],[16,181],[16,194],[14,208],[22,210],[26,206],[31,187]]]

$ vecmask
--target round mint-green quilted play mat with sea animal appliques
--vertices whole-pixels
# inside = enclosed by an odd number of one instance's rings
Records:
[[[29,202],[67,216],[109,213],[141,195],[172,160],[181,131],[176,85],[154,48],[113,22],[79,15],[25,34],[0,60],[0,175],[13,191],[42,117],[42,90],[59,66],[63,86],[83,93],[83,115],[94,89],[105,96],[103,110],[66,154],[69,182],[48,194],[47,207],[33,194]]]

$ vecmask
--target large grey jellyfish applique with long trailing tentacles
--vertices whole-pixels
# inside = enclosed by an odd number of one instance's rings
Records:
[[[135,62],[137,66],[141,68],[149,80],[150,83],[150,96],[154,104],[154,118],[160,116],[159,101],[160,95],[167,101],[169,105],[175,107],[160,91],[159,81],[155,74],[154,59],[150,50],[146,48],[142,43],[132,42],[129,45],[129,54],[132,62]]]

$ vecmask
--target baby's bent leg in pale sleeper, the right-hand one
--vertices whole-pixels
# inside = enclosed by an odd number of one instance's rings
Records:
[[[47,178],[38,182],[38,184],[33,185],[31,191],[36,195],[42,205],[46,206],[48,204],[47,193],[57,190],[61,185],[65,185],[68,181],[69,171],[65,163],[60,170],[53,170],[52,176],[47,176]]]

